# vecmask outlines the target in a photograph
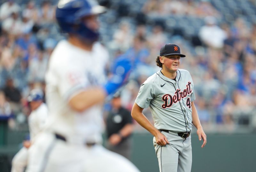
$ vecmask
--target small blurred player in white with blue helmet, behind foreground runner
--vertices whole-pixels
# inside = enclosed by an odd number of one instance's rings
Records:
[[[44,129],[45,121],[48,116],[47,106],[43,103],[43,91],[39,89],[31,90],[28,96],[31,113],[28,116],[28,126],[30,141],[23,142],[23,147],[12,159],[11,172],[23,172],[28,163],[28,154],[33,150],[33,143],[39,133]]]

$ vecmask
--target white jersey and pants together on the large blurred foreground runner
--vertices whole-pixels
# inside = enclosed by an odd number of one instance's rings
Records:
[[[67,41],[58,43],[46,74],[49,122],[29,154],[27,172],[139,172],[131,162],[102,145],[85,144],[102,140],[101,105],[80,113],[68,106],[72,96],[87,87],[105,83],[107,61],[108,53],[98,43],[93,45],[92,51],[82,50]],[[54,133],[66,140],[56,139]]]

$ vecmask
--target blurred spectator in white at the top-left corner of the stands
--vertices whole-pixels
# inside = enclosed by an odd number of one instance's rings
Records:
[[[12,13],[20,12],[20,6],[14,2],[14,0],[8,0],[0,7],[0,20],[5,20]]]

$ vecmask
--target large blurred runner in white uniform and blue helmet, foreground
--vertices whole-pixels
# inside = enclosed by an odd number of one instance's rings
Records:
[[[104,99],[124,84],[131,62],[116,60],[106,82],[108,54],[96,43],[97,15],[104,7],[91,0],[61,0],[56,19],[68,40],[52,52],[46,73],[49,123],[36,140],[27,172],[137,172],[130,161],[101,145]]]

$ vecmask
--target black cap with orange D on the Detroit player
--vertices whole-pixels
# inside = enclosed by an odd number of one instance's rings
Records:
[[[174,43],[165,44],[160,50],[160,56],[175,55],[178,54],[180,57],[186,57],[184,54],[180,54],[180,47]]]

